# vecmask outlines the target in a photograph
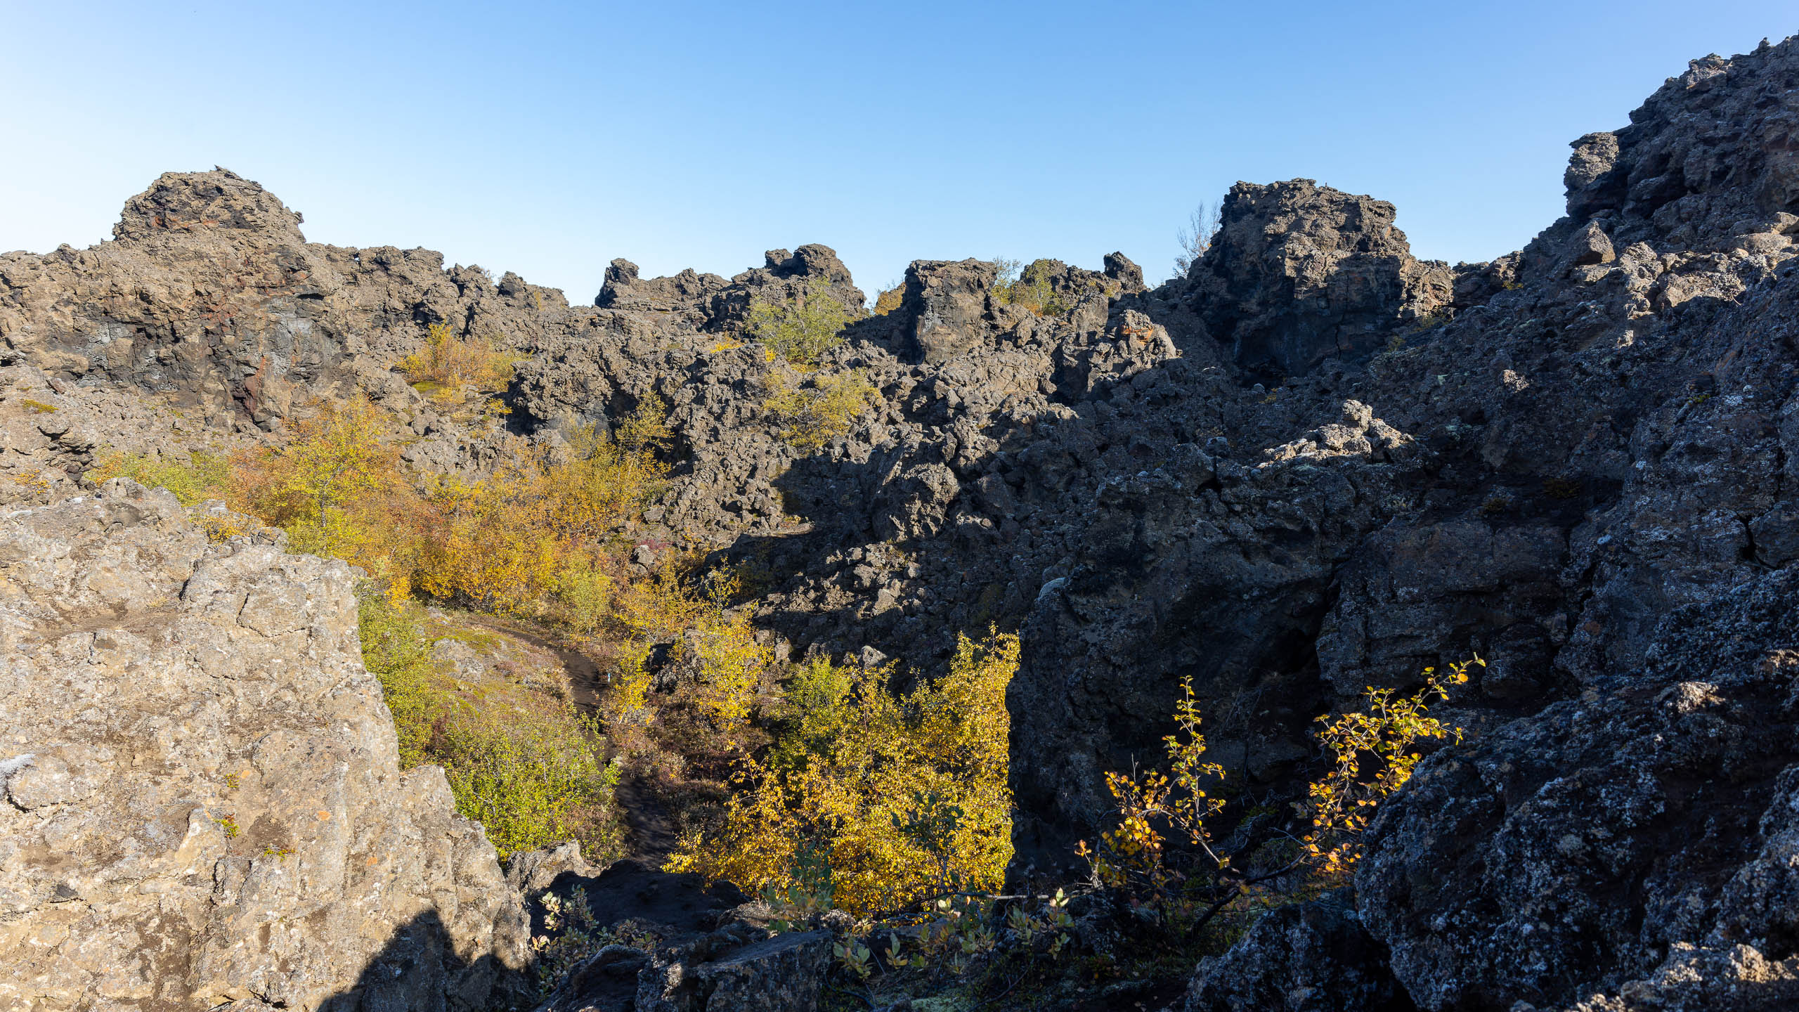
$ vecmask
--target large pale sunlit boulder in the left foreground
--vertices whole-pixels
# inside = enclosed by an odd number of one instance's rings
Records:
[[[443,771],[399,771],[344,564],[122,479],[11,510],[0,699],[9,1007],[516,1001],[524,908]]]

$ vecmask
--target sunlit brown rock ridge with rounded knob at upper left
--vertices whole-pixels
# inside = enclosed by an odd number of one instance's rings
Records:
[[[196,425],[275,430],[311,398],[358,389],[426,411],[389,366],[453,324],[529,342],[567,303],[516,276],[444,270],[430,250],[308,243],[300,216],[237,175],[166,173],[113,241],[0,256],[0,366],[124,384]]]

